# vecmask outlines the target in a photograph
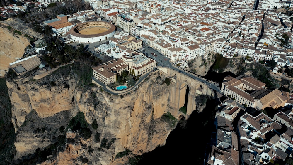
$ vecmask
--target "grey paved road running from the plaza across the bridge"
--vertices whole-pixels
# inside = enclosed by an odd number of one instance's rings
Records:
[[[189,76],[190,78],[193,78],[194,80],[197,80],[197,81],[200,81],[202,83],[207,84],[209,86],[209,88],[211,88],[211,89],[213,89],[213,90],[215,90],[217,92],[220,92],[221,91],[221,89],[219,87],[219,84],[217,82],[209,81],[207,79],[202,78],[199,75],[195,75],[193,73],[190,73],[187,70],[178,68],[177,66],[174,66],[174,65],[172,65],[170,63],[170,61],[169,61],[170,59],[169,58],[163,56],[158,51],[156,51],[153,48],[149,47],[145,43],[143,43],[143,46],[144,46],[144,50],[142,51],[142,53],[144,53],[145,55],[147,55],[147,57],[150,57],[150,58],[156,60],[156,62],[158,63],[158,66],[171,68],[173,70],[176,70],[176,71],[180,72],[181,74],[184,74],[184,75]],[[155,53],[157,55],[157,57],[154,57],[151,53]]]

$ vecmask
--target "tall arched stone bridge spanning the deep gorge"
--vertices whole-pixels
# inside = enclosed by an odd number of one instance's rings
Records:
[[[214,92],[209,88],[209,85],[205,80],[197,80],[178,71],[170,68],[158,67],[159,70],[163,71],[168,75],[171,80],[170,93],[169,93],[169,112],[174,117],[183,115],[185,119],[188,119],[193,110],[196,110],[195,97],[198,95],[210,95],[213,96]],[[188,91],[188,93],[186,93]],[[185,104],[185,98],[187,98],[187,104]],[[181,107],[187,105],[186,115],[179,111]]]

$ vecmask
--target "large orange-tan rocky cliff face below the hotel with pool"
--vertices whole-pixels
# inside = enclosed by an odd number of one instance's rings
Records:
[[[152,151],[165,143],[175,127],[162,117],[169,109],[169,88],[162,84],[166,76],[160,71],[151,73],[136,91],[122,96],[110,95],[95,85],[81,90],[76,75],[62,72],[41,80],[7,82],[13,105],[16,159],[57,142],[63,134],[59,127],[66,128],[79,111],[89,124],[96,119],[98,129],[89,127],[92,135],[86,140],[79,138],[79,131],[67,132],[63,149],[57,156],[46,155],[50,158],[43,164],[127,164],[127,157],[115,158],[117,153],[128,150],[133,156]],[[96,133],[103,140],[96,141]],[[101,147],[105,141],[111,142],[110,147]]]

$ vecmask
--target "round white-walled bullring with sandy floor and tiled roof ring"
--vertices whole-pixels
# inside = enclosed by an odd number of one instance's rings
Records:
[[[72,27],[69,33],[73,42],[94,43],[113,37],[115,30],[115,25],[111,23],[90,21]]]

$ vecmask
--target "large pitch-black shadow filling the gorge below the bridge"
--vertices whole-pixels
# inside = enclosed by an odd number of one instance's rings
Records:
[[[143,154],[138,164],[204,164],[215,107],[215,100],[209,99],[203,112],[193,111],[188,120],[181,119],[166,144]]]

